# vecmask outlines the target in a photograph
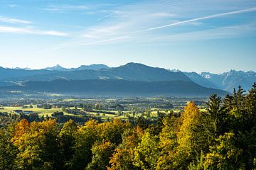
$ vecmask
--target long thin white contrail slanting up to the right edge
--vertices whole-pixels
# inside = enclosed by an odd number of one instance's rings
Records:
[[[227,12],[227,13],[217,13],[217,14],[214,14],[214,15],[203,16],[203,17],[200,17],[200,18],[193,18],[193,19],[186,20],[186,21],[170,23],[170,24],[164,25],[164,26],[147,28],[145,30],[138,30],[138,31],[136,31],[134,33],[141,33],[141,32],[146,32],[146,31],[150,31],[150,30],[158,30],[158,29],[166,28],[166,27],[170,27],[170,26],[178,26],[178,25],[181,25],[183,23],[191,23],[193,21],[201,21],[201,20],[205,20],[205,19],[209,19],[209,18],[218,18],[220,16],[228,16],[228,15],[233,15],[233,14],[238,14],[238,13],[245,13],[245,12],[252,12],[252,11],[256,11],[256,7],[254,7],[254,8],[246,8],[246,9],[242,9],[242,10],[238,10],[238,11],[231,11],[231,12]]]

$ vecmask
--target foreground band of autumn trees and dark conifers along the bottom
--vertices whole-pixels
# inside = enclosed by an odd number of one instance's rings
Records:
[[[256,84],[154,124],[23,119],[0,131],[0,169],[256,169]]]

